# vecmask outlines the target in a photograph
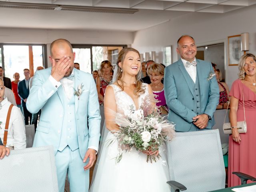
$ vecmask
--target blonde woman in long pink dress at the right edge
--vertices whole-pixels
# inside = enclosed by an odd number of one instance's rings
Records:
[[[240,185],[238,176],[232,172],[243,172],[256,177],[256,58],[253,54],[243,55],[238,64],[239,79],[230,90],[230,123],[232,134],[228,150],[228,187]],[[244,98],[244,106],[243,106]],[[239,134],[237,122],[244,121],[247,132]],[[250,181],[248,181],[250,183]]]

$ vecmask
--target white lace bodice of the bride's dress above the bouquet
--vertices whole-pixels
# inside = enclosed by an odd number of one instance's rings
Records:
[[[130,115],[131,114],[131,106],[136,109],[136,106],[134,104],[134,101],[132,98],[124,91],[121,90],[121,88],[115,84],[111,84],[109,86],[112,86],[114,89],[115,99],[116,99],[116,112],[124,115]],[[144,94],[141,94],[138,98],[138,104],[139,108],[145,98],[146,95],[148,95],[148,84],[142,83],[142,88],[145,90]]]

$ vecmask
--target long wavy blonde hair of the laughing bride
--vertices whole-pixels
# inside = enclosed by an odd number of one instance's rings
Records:
[[[116,67],[118,68],[118,70],[116,72],[116,83],[118,84],[118,86],[121,88],[122,91],[124,90],[124,81],[121,79],[123,72],[121,72],[121,68],[120,68],[120,66],[118,64],[121,63],[121,66],[123,66],[124,58],[125,58],[125,56],[127,55],[127,53],[129,51],[136,52],[140,56],[140,53],[136,49],[134,49],[134,48],[123,48],[119,52],[118,57],[117,57],[117,64],[116,64]],[[141,70],[142,70],[142,67],[140,66],[140,70],[139,70],[138,74],[135,76],[136,82],[135,82],[134,94],[136,96],[138,96],[140,94],[143,94],[145,92],[145,90],[142,88],[142,82],[141,82],[141,79],[140,79],[140,77],[141,77]],[[119,83],[118,80],[121,83]]]

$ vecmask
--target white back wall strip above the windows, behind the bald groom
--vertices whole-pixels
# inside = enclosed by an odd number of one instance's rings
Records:
[[[58,38],[67,39],[72,44],[126,44],[130,46],[134,34],[122,31],[0,28],[0,43],[47,44],[47,56],[49,56],[50,43]],[[51,66],[49,59],[48,66]]]

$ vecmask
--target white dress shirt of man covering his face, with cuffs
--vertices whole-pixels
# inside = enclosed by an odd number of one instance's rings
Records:
[[[74,74],[74,70],[71,74]],[[62,85],[65,95],[68,98],[68,100],[71,99],[72,95],[74,94],[74,81],[70,80],[68,78],[62,78],[60,82],[56,81],[52,76],[49,77],[50,82],[58,88],[60,85]],[[96,152],[98,152],[98,148],[95,146],[89,146],[88,149],[94,149]]]

